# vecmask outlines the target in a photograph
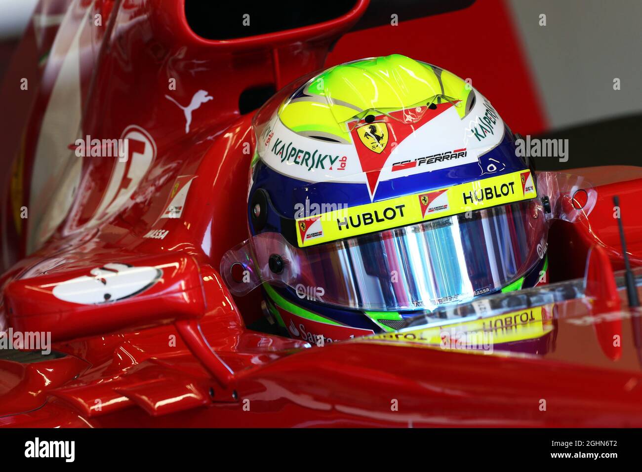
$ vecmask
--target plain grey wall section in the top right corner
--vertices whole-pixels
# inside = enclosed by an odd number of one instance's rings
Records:
[[[507,4],[551,128],[642,113],[641,0]],[[613,90],[616,77],[620,91]]]

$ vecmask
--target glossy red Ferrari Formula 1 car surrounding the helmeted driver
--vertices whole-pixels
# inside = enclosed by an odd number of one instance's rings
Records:
[[[641,168],[566,170],[534,288],[338,342],[232,296],[254,112],[348,31],[390,52],[383,2],[234,8],[246,33],[214,3],[37,7],[1,98],[0,425],[642,426]]]

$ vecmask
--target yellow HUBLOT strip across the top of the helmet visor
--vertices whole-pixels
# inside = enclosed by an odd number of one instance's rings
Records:
[[[530,170],[298,218],[299,247],[537,197]]]

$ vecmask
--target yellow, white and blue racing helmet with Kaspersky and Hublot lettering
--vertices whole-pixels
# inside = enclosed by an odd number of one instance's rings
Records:
[[[292,337],[394,331],[546,280],[550,202],[470,83],[403,55],[285,87],[253,120],[250,238],[221,274]],[[543,197],[543,198],[542,198]]]

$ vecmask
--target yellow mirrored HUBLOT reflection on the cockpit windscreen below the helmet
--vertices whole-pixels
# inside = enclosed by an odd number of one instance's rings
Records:
[[[540,338],[553,330],[553,323],[543,306],[513,311],[494,317],[480,318],[464,323],[432,326],[396,333],[382,333],[362,341],[384,341],[403,344],[424,344],[452,347],[466,346],[470,340],[483,340],[490,345]]]

